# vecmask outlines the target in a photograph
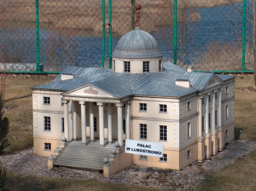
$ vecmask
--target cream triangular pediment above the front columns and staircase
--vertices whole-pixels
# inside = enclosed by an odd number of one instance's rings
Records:
[[[92,97],[92,98],[117,98],[116,96],[103,91],[92,84],[73,89],[62,94],[63,96],[79,96],[79,97]]]

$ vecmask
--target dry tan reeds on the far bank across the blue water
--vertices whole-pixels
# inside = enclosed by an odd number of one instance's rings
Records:
[[[240,2],[241,0],[231,0]],[[142,4],[141,28],[155,31],[156,26],[172,25],[173,0],[138,0]],[[178,1],[178,21],[183,20],[183,9],[190,7],[213,7],[230,3],[230,0],[180,0]],[[34,0],[0,0],[0,18],[6,21],[36,20]],[[112,20],[114,33],[130,30],[130,1],[112,0]],[[108,1],[105,5],[108,22]],[[102,31],[102,4],[95,0],[40,0],[39,17],[42,23],[52,23],[56,28],[88,29]]]

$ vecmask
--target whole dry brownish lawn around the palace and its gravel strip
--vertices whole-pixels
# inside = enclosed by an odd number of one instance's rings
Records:
[[[33,146],[31,86],[44,84],[56,75],[9,75],[6,80],[5,116],[10,121],[9,146],[6,153],[13,153]],[[256,140],[256,92],[243,89],[254,86],[252,75],[240,75],[235,79],[235,136],[239,139]],[[242,134],[239,131],[242,130]],[[95,179],[73,180],[60,178],[33,177],[8,172],[11,190],[156,190],[127,184],[103,183]],[[238,159],[222,170],[209,175],[196,190],[237,191],[256,190],[256,149],[248,156]]]

